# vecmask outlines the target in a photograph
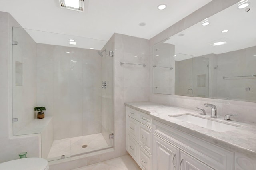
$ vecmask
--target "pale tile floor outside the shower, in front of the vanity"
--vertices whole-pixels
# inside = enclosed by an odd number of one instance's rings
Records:
[[[141,170],[141,168],[130,155],[125,155],[74,170]]]

